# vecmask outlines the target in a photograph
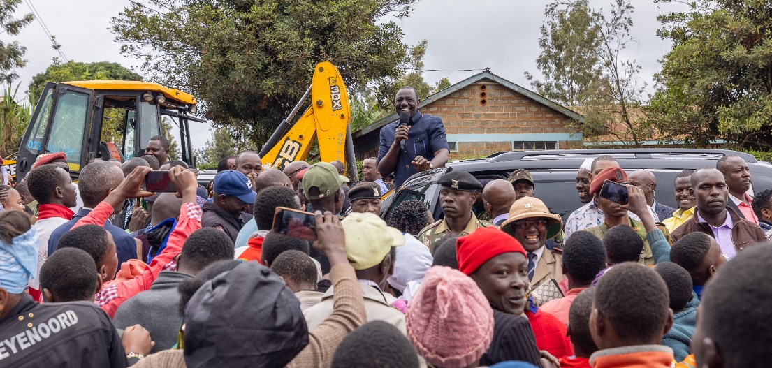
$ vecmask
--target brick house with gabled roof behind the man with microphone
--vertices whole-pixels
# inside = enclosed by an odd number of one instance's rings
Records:
[[[451,159],[506,150],[582,147],[581,133],[566,127],[582,120],[581,114],[488,69],[422,98],[418,109],[442,119]],[[398,118],[392,113],[352,134],[358,160],[378,157],[381,127]]]

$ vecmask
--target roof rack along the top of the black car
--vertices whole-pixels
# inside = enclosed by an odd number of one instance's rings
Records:
[[[525,161],[525,160],[583,160],[608,154],[616,159],[660,158],[660,159],[703,159],[718,160],[725,156],[739,156],[745,162],[755,164],[758,161],[752,154],[736,150],[709,150],[695,148],[621,148],[587,150],[526,150],[498,152],[489,156],[489,162]]]

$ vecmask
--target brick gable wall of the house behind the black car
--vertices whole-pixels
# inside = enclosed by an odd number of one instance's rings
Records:
[[[482,93],[485,93],[482,96]],[[483,79],[423,106],[422,112],[442,118],[448,134],[571,133],[571,118],[498,83]],[[533,140],[540,140],[534,138]],[[560,141],[560,148],[581,142]],[[485,156],[511,150],[509,141],[459,142],[451,158]]]

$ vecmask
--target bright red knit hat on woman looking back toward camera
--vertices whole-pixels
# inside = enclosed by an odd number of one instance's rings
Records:
[[[477,228],[472,234],[455,241],[455,254],[459,260],[459,271],[472,275],[490,258],[502,253],[522,253],[526,250],[520,241],[498,228]]]

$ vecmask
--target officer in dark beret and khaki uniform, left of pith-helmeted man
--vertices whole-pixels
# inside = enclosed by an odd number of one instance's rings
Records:
[[[443,175],[437,184],[439,204],[445,217],[425,227],[418,233],[418,240],[429,247],[434,254],[436,242],[446,234],[469,235],[477,228],[493,226],[488,221],[481,221],[472,213],[472,204],[477,200],[477,191],[482,191],[482,184],[466,171],[451,171]]]

